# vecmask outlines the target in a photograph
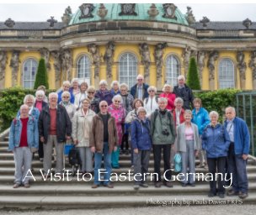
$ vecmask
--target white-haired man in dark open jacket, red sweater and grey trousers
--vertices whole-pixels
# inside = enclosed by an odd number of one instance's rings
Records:
[[[71,139],[72,123],[66,108],[57,104],[56,92],[49,94],[49,107],[44,108],[39,118],[40,141],[44,143],[44,172],[50,176],[53,144],[56,148],[56,173],[63,170],[63,149],[66,139]]]

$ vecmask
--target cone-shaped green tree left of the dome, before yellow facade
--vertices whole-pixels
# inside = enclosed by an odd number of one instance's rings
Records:
[[[47,76],[47,71],[46,71],[46,66],[45,66],[45,59],[43,59],[43,58],[40,59],[39,65],[37,67],[34,89],[37,89],[37,87],[40,87],[40,85],[43,85],[46,87],[46,89],[49,89],[48,76]]]

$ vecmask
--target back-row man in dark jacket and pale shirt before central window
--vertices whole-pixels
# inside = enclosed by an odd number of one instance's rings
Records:
[[[131,95],[134,97],[134,99],[139,98],[143,101],[148,97],[147,88],[149,86],[144,83],[144,76],[142,75],[137,76],[136,80],[136,85],[131,87]]]

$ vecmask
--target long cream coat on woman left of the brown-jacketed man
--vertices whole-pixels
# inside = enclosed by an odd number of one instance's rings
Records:
[[[92,110],[83,116],[82,110],[79,109],[72,119],[72,139],[78,140],[77,147],[89,146],[89,134],[91,133],[93,117],[96,115]]]

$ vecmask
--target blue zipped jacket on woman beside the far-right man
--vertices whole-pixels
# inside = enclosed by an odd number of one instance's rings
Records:
[[[213,128],[207,125],[202,134],[202,148],[206,151],[207,158],[226,157],[230,139],[227,129],[220,123]]]

